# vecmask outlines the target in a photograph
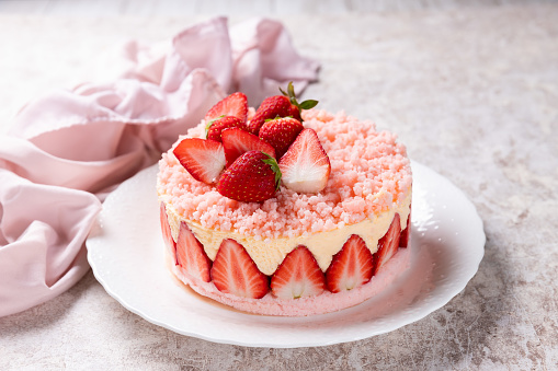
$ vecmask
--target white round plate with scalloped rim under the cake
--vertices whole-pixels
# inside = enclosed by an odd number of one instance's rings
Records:
[[[294,348],[353,341],[419,321],[475,276],[485,253],[482,221],[449,181],[417,162],[413,170],[409,275],[366,302],[310,317],[230,310],[172,278],[164,263],[155,185],[157,165],[124,182],[105,200],[87,241],[104,289],[129,311],[179,334],[250,347]]]

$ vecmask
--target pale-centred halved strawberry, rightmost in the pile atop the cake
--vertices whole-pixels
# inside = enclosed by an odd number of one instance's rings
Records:
[[[314,129],[304,129],[280,160],[285,187],[318,193],[328,184],[331,164]]]

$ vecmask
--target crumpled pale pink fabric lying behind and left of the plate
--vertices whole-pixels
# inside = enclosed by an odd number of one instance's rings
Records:
[[[119,78],[30,103],[0,137],[0,316],[49,300],[89,269],[84,241],[105,195],[153,164],[219,98],[258,105],[318,65],[281,23],[231,28],[217,18],[176,35],[162,54],[125,46]],[[109,74],[109,72],[107,72]]]

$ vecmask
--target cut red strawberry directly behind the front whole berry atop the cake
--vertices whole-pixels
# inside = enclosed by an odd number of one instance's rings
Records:
[[[225,148],[225,159],[227,167],[235,162],[242,153],[248,151],[262,151],[275,158],[275,149],[270,144],[239,128],[229,128],[223,130],[223,147]]]

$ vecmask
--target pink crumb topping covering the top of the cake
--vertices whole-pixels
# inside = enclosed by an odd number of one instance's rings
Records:
[[[284,186],[263,202],[238,202],[195,181],[172,150],[159,162],[158,192],[179,215],[207,229],[237,231],[258,239],[307,235],[361,222],[402,201],[412,182],[405,146],[388,131],[344,113],[303,113],[331,162],[327,187],[297,194]],[[203,125],[189,130],[201,137]],[[179,139],[182,140],[182,138]]]

